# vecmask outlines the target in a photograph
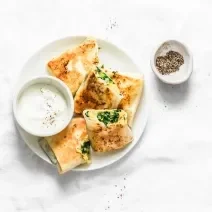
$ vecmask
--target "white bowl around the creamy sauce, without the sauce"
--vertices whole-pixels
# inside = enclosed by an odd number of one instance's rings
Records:
[[[67,103],[67,109],[68,109],[68,115],[66,117],[66,119],[64,120],[63,124],[58,127],[58,128],[52,128],[51,131],[48,130],[36,130],[33,129],[32,126],[30,125],[26,125],[23,124],[24,122],[21,121],[21,118],[18,115],[18,100],[20,99],[21,95],[23,94],[23,92],[31,85],[34,84],[40,84],[40,83],[44,83],[44,84],[48,84],[51,86],[54,86],[57,90],[59,90],[59,92],[61,92],[61,94],[63,95],[63,97],[66,100]],[[73,96],[70,92],[70,89],[68,88],[68,86],[63,83],[61,80],[57,79],[56,77],[51,77],[51,76],[42,76],[42,77],[35,77],[32,78],[31,80],[27,81],[25,84],[23,84],[18,91],[16,92],[16,94],[14,95],[14,99],[13,99],[13,113],[14,116],[16,118],[16,121],[18,122],[18,124],[28,133],[32,134],[32,135],[36,135],[39,137],[46,137],[46,136],[51,136],[51,135],[55,135],[59,132],[61,132],[71,121],[72,117],[73,117],[73,113],[74,113],[74,100],[73,100]]]

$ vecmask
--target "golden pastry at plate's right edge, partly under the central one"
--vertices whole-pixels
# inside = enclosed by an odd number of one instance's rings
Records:
[[[132,126],[143,91],[143,75],[116,71],[106,71],[106,73],[117,84],[120,93],[123,95],[118,108],[127,112],[128,124]]]

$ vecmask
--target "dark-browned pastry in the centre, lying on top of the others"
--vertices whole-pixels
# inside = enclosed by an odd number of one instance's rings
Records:
[[[74,98],[75,113],[85,109],[117,108],[122,95],[113,80],[98,66],[82,83]]]

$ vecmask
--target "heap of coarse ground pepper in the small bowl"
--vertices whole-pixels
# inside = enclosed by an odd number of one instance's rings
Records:
[[[168,51],[165,56],[158,56],[156,58],[157,70],[162,75],[167,75],[179,71],[180,66],[183,64],[183,56],[176,51]]]

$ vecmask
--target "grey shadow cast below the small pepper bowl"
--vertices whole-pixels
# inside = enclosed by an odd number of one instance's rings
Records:
[[[170,104],[181,104],[183,101],[189,98],[190,85],[189,80],[179,85],[169,85],[161,82],[155,77],[155,83],[158,93],[162,99]]]

